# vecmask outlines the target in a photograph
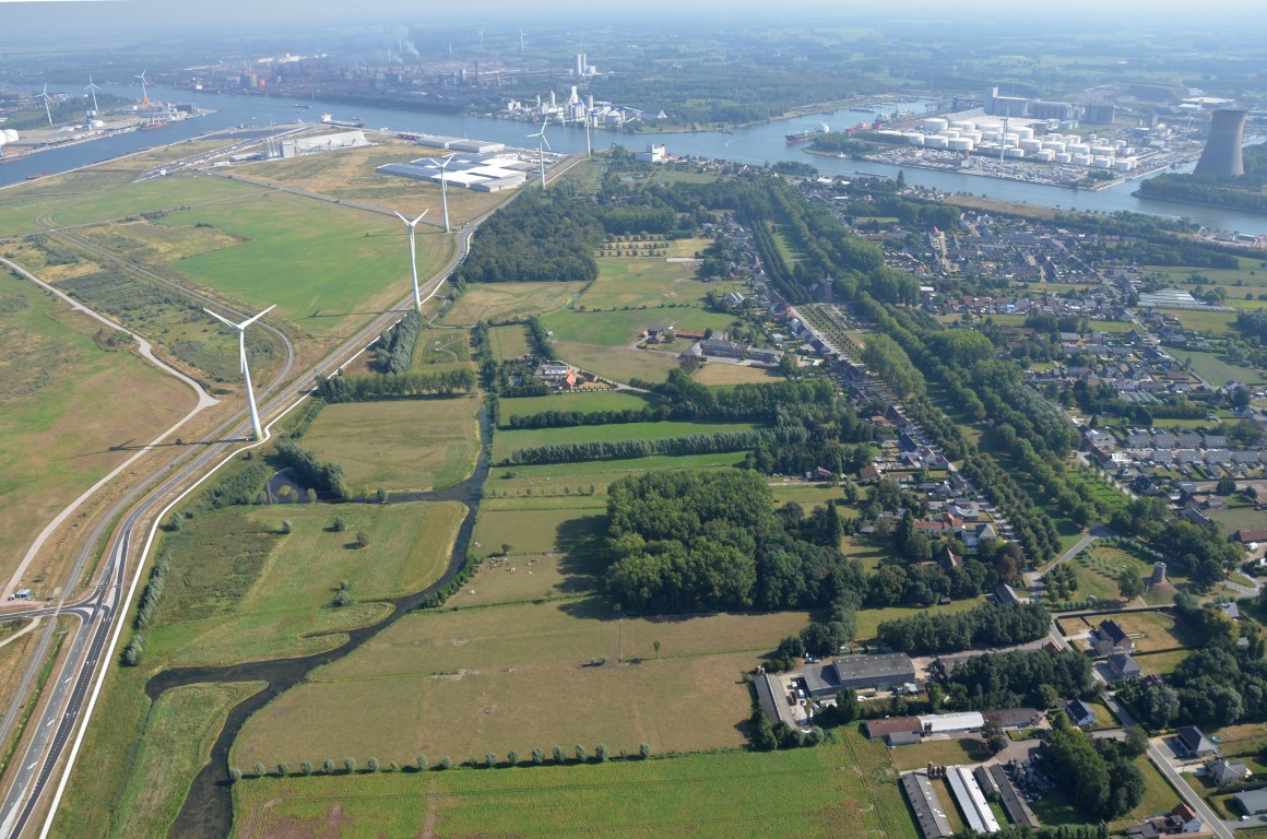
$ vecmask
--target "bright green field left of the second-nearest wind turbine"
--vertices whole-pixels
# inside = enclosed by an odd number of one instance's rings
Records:
[[[276,303],[308,332],[337,333],[408,291],[403,228],[364,210],[274,193],[170,213],[158,223],[210,224],[241,238],[172,267],[252,307]],[[449,260],[454,243],[430,228],[417,241],[423,280]]]

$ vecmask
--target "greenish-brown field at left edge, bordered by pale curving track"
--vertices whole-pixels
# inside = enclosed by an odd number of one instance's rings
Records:
[[[80,493],[194,407],[188,385],[92,340],[96,321],[0,271],[0,574]],[[25,583],[51,596],[48,553]],[[56,577],[56,575],[53,575]]]

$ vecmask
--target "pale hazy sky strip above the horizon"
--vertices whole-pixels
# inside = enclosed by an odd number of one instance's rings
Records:
[[[437,6],[440,6],[437,9]],[[0,51],[29,37],[72,37],[77,41],[99,35],[139,34],[144,30],[189,32],[260,25],[304,25],[340,22],[378,22],[422,24],[470,23],[508,28],[545,23],[604,25],[620,16],[639,16],[674,23],[725,16],[730,20],[789,25],[801,20],[820,23],[874,22],[879,18],[959,23],[973,16],[991,20],[1035,19],[1044,9],[1067,23],[1085,20],[1088,29],[1105,23],[1136,20],[1142,27],[1161,24],[1263,25],[1261,0],[1213,0],[1194,6],[1178,0],[797,0],[770,4],[769,0],[630,0],[601,4],[593,0],[480,0],[475,5],[438,4],[433,0],[0,0]],[[10,38],[14,42],[10,42]]]

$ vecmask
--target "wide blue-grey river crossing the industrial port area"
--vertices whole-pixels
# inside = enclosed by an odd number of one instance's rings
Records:
[[[136,98],[138,93],[134,87],[113,85],[103,87],[105,93],[124,98]],[[82,95],[82,90],[73,85],[49,85],[49,90],[53,93]],[[213,109],[217,113],[189,119],[157,131],[132,132],[80,146],[30,155],[27,160],[0,166],[0,186],[19,183],[30,175],[61,172],[151,146],[189,139],[217,128],[231,128],[243,124],[258,127],[269,125],[272,122],[291,122],[295,119],[315,122],[321,118],[322,113],[327,112],[340,119],[351,119],[355,117],[364,120],[366,128],[465,136],[512,146],[531,146],[532,142],[527,138],[527,134],[532,131],[532,127],[527,123],[488,117],[452,117],[385,108],[365,108],[360,105],[332,105],[319,100],[200,94],[188,90],[165,90],[161,87],[151,87],[150,93],[155,99],[166,99],[175,103],[191,101],[200,108]],[[296,104],[312,105],[312,109],[298,110],[294,108]],[[917,114],[922,113],[922,104],[919,100],[897,103],[898,106],[914,110]],[[886,109],[892,108],[892,104],[886,104]],[[1062,209],[1098,210],[1104,213],[1130,210],[1169,218],[1188,217],[1196,223],[1210,228],[1237,231],[1254,236],[1267,233],[1267,215],[1135,198],[1131,193],[1138,189],[1138,181],[1128,181],[1101,191],[1072,190],[1041,184],[982,177],[979,175],[959,175],[927,169],[900,167],[887,163],[807,155],[803,146],[788,146],[784,142],[784,134],[816,128],[822,122],[826,122],[832,128],[844,129],[858,122],[873,122],[874,119],[875,114],[841,110],[835,114],[794,117],[774,123],[751,125],[736,129],[734,133],[694,132],[631,136],[593,131],[590,138],[595,148],[604,148],[614,143],[641,150],[646,143],[654,142],[668,146],[670,153],[699,155],[703,157],[732,160],[741,163],[760,165],[774,163],[777,161],[808,162],[821,172],[831,175],[853,175],[863,171],[896,177],[901,171],[906,174],[906,181],[911,185],[939,189],[945,193],[972,193],[1007,202]],[[585,131],[583,128],[551,125],[546,129],[546,138],[550,141],[550,146],[559,152],[583,152],[585,150]]]

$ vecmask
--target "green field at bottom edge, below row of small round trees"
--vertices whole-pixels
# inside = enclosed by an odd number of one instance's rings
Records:
[[[343,839],[792,839],[837,836],[841,825],[878,839],[919,836],[887,749],[855,731],[841,731],[837,744],[767,754],[252,778],[234,787],[234,805],[237,839],[323,835],[329,824]]]

